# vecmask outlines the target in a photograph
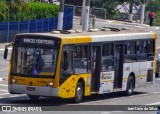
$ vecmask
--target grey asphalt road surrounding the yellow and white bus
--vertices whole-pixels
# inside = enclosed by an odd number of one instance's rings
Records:
[[[78,23],[79,21],[74,21],[74,24]],[[97,21],[98,28],[103,26],[111,26],[108,22],[105,21]],[[122,27],[122,25],[114,25],[118,27]],[[128,25],[127,25],[128,26]],[[113,24],[112,24],[113,27]],[[132,26],[137,28],[137,25]],[[147,27],[139,27],[141,29],[146,29]],[[160,46],[160,33],[157,27],[148,28],[148,30],[156,31],[158,33],[158,42],[157,47]],[[112,106],[111,108],[118,109],[121,106],[126,107],[130,105],[144,105],[144,106],[151,106],[151,105],[160,105],[160,79],[156,79],[155,84],[135,89],[135,93],[133,96],[125,96],[123,92],[112,93],[112,94],[104,94],[104,95],[92,95],[86,97],[82,103],[74,104],[71,99],[60,99],[60,98],[40,98],[38,102],[32,102],[26,95],[13,95],[8,93],[8,86],[7,86],[7,74],[8,74],[8,64],[9,59],[3,60],[3,47],[0,49],[0,78],[5,80],[0,80],[0,105],[20,105],[20,106],[49,106],[50,109],[56,109],[60,111],[48,111],[47,114],[50,113],[62,113],[62,114],[156,114],[157,111],[124,111],[124,110],[101,110],[95,111],[100,109],[100,107],[104,106]],[[10,55],[9,50],[9,55]],[[9,57],[8,57],[9,58]],[[117,106],[119,105],[119,106]],[[67,110],[66,107],[69,107],[72,111],[64,111]],[[73,111],[74,110],[74,111]],[[85,111],[76,111],[76,110],[85,110]],[[64,111],[64,112],[63,112]],[[0,112],[1,113],[8,113],[8,112]],[[12,113],[21,113],[21,112],[12,112]],[[23,113],[33,113],[33,112],[23,112]],[[34,112],[34,114],[46,114],[46,112]]]

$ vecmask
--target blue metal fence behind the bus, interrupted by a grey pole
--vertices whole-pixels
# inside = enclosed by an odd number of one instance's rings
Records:
[[[0,22],[0,42],[11,42],[18,33],[50,32],[57,29],[58,17],[18,22]],[[73,9],[65,7],[63,29],[73,26]]]

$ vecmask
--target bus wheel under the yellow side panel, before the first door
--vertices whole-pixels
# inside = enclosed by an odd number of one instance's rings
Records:
[[[79,103],[82,101],[83,97],[84,97],[84,87],[81,82],[78,82],[76,86],[74,101],[76,103]]]

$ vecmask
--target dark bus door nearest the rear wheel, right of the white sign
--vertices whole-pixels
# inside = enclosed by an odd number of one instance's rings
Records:
[[[123,79],[123,45],[115,45],[115,77],[114,77],[114,89],[122,88],[122,79]]]

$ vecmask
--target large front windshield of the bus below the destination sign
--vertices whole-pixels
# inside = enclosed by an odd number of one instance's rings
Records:
[[[43,45],[15,46],[12,73],[23,76],[54,76],[58,47]]]

